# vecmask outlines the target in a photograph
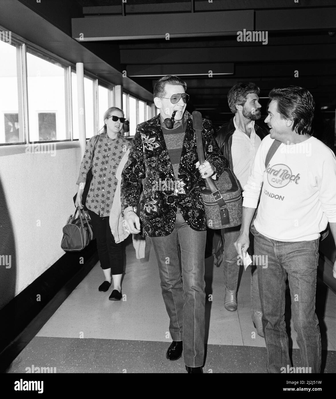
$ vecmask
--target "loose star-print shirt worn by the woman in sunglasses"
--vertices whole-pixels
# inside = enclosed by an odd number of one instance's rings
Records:
[[[93,136],[86,144],[86,150],[80,166],[79,177],[76,184],[86,182],[86,174],[91,167],[92,149],[97,136]],[[92,180],[88,196],[86,198],[86,207],[100,215],[109,216],[117,179],[115,172],[119,162],[130,143],[123,137],[107,141],[104,133],[99,135],[94,158],[92,162]]]

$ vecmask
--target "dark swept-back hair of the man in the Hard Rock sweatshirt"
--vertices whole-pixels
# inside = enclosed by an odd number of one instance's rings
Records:
[[[283,119],[293,120],[293,131],[310,134],[315,101],[307,89],[298,86],[272,89],[268,97],[277,102],[277,112]]]

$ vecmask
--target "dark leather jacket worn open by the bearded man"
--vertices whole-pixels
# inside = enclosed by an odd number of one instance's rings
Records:
[[[232,154],[231,154],[232,134],[236,130],[236,128],[234,127],[233,118],[231,118],[229,122],[225,122],[217,130],[215,134],[215,140],[218,144],[219,149],[221,150],[221,153],[225,156],[227,162],[225,167],[230,168],[232,171],[233,171]],[[254,124],[254,130],[256,131],[256,134],[258,134],[261,140],[264,137],[266,137],[268,134],[270,134],[267,128],[261,127],[256,123]]]

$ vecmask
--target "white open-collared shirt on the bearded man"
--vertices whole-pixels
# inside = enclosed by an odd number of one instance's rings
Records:
[[[244,188],[248,177],[251,174],[251,168],[256,156],[261,140],[254,130],[254,120],[248,124],[251,128],[250,137],[236,125],[236,117],[233,118],[234,133],[232,134],[231,156],[233,164],[233,173],[235,174],[240,188]]]

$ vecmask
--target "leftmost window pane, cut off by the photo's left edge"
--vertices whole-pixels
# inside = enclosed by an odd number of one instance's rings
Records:
[[[0,59],[5,61],[0,62],[0,143],[24,142],[22,88],[18,84],[21,46],[0,41]]]

